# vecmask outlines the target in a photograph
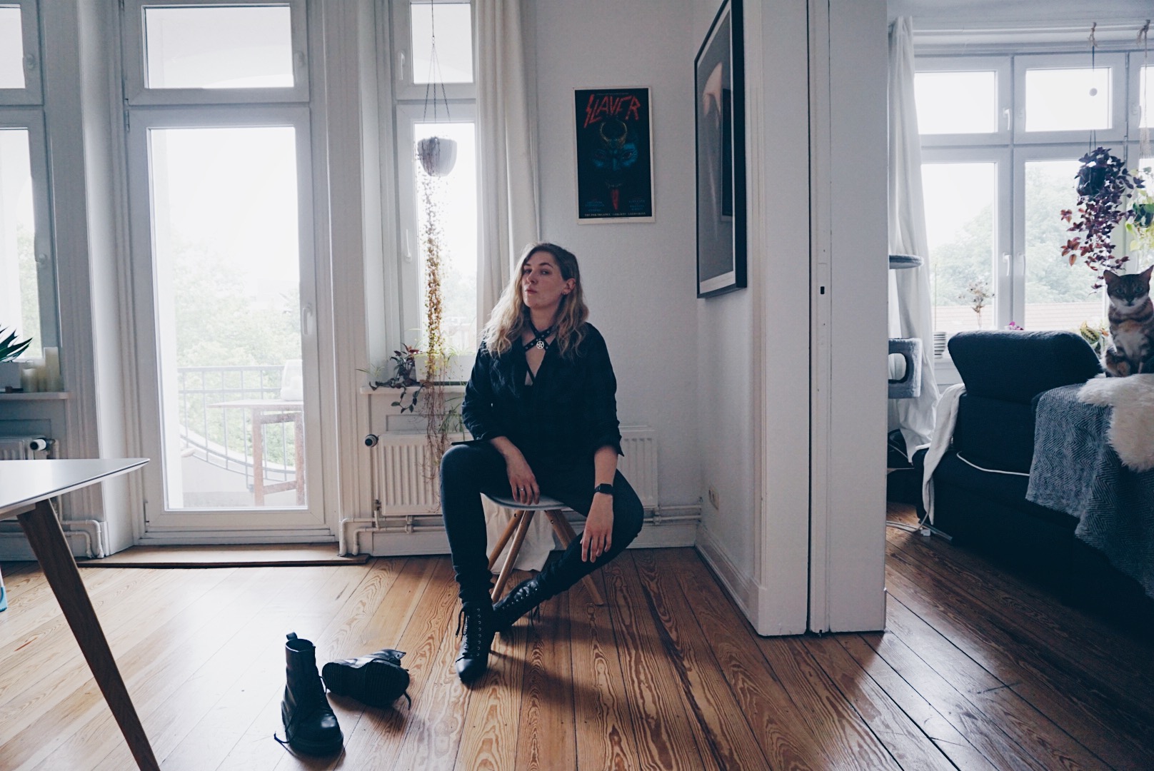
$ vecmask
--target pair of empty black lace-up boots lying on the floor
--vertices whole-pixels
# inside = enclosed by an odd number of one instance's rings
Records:
[[[344,746],[337,716],[324,688],[369,706],[384,708],[402,695],[407,698],[409,673],[400,666],[404,653],[384,649],[357,659],[324,665],[324,683],[316,671],[316,648],[288,634],[285,643],[285,695],[280,720],[285,741],[302,755],[335,755]],[[279,741],[279,740],[278,740]]]

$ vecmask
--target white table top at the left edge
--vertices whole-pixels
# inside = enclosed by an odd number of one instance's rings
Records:
[[[29,509],[37,501],[69,493],[92,482],[127,473],[148,458],[84,458],[0,461],[0,519]]]

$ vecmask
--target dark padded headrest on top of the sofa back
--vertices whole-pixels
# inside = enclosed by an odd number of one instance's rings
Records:
[[[1101,366],[1080,335],[1066,331],[971,330],[950,338],[966,392],[1029,404],[1041,391],[1084,383]]]

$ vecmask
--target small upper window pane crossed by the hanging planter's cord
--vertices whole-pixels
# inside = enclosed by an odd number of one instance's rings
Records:
[[[473,22],[467,2],[411,2],[414,83],[473,82]],[[433,67],[433,32],[436,67]],[[440,75],[437,74],[440,70]]]

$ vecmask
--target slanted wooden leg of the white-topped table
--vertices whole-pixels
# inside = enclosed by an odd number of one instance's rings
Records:
[[[36,559],[40,561],[40,569],[47,578],[52,592],[60,602],[68,626],[72,627],[80,650],[88,659],[88,666],[92,669],[104,701],[108,703],[112,716],[120,725],[120,732],[128,742],[128,749],[136,758],[136,765],[142,771],[159,771],[160,765],[156,762],[152,747],[149,744],[148,735],[136,716],[136,708],[128,696],[128,689],[117,668],[117,661],[112,658],[108,649],[108,641],[104,637],[100,622],[92,609],[92,600],[88,597],[88,590],[80,578],[80,570],[76,561],[73,560],[68,541],[60,529],[60,523],[52,512],[52,507],[47,501],[40,501],[31,511],[25,511],[18,516],[20,526],[28,536],[28,542],[36,553]]]

